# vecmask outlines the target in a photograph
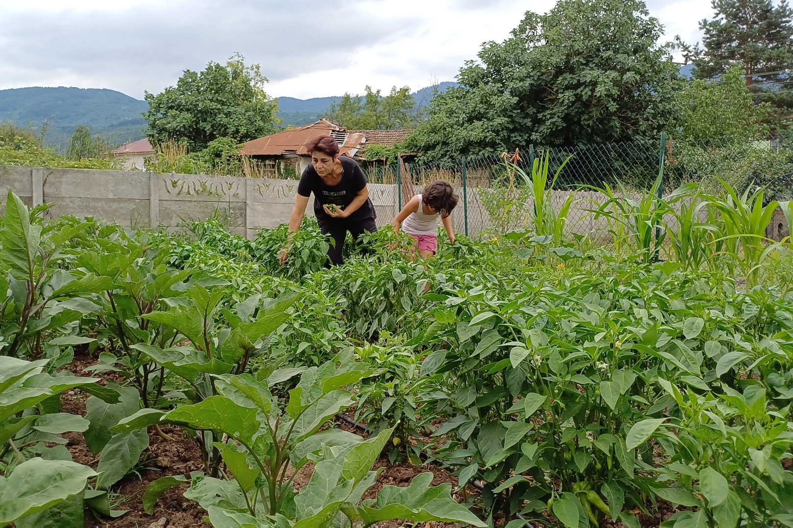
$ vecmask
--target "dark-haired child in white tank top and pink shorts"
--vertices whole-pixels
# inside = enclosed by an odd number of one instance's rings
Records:
[[[416,239],[419,256],[427,259],[438,251],[438,217],[449,241],[454,244],[454,230],[451,226],[451,211],[457,205],[458,196],[446,181],[433,181],[424,188],[424,192],[413,196],[405,203],[397,218],[391,225],[394,233],[402,230]]]

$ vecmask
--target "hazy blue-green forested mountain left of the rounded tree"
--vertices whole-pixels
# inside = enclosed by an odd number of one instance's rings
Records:
[[[143,139],[146,121],[141,114],[147,110],[146,101],[112,89],[60,86],[0,90],[0,123],[38,131],[47,120],[44,142],[58,150],[66,149],[80,124],[114,145]]]

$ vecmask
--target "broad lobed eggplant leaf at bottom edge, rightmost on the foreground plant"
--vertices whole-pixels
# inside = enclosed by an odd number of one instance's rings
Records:
[[[452,499],[451,484],[430,487],[432,478],[432,473],[420,473],[413,477],[407,488],[384,486],[377,493],[374,507],[358,507],[358,514],[366,525],[391,519],[408,519],[416,522],[464,522],[481,528],[487,526],[468,508]]]

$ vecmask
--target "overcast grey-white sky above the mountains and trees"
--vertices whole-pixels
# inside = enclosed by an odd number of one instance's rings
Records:
[[[482,42],[554,0],[0,0],[0,89],[110,88],[143,99],[242,53],[275,97],[452,81]],[[710,0],[648,0],[663,40],[701,38]]]

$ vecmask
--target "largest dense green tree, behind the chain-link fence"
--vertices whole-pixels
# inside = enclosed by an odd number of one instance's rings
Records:
[[[641,0],[559,0],[482,46],[409,140],[434,158],[534,142],[656,137],[676,115],[677,67]]]

